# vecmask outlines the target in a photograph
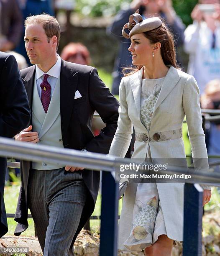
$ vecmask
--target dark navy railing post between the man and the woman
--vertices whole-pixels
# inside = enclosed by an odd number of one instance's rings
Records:
[[[118,183],[110,172],[102,172],[100,256],[117,256]]]

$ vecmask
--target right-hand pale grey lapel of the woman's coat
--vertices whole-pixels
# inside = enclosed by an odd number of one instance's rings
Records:
[[[161,91],[159,93],[156,104],[153,108],[153,114],[155,113],[155,111],[159,107],[159,105],[166,99],[166,97],[174,89],[174,87],[176,86],[178,81],[179,81],[178,71],[173,66],[171,66],[169,68],[169,70],[166,74],[166,77],[164,79],[164,82],[162,84]],[[153,114],[152,114],[151,118],[153,118]]]

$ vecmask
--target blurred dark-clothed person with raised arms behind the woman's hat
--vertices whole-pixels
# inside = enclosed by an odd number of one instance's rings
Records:
[[[129,8],[120,10],[120,12],[115,16],[113,23],[107,28],[107,34],[114,36],[120,41],[120,48],[115,58],[113,68],[112,93],[116,95],[118,95],[120,80],[123,77],[123,68],[132,66],[131,55],[128,51],[130,40],[123,38],[121,36],[121,31],[129,16],[138,8],[143,18],[149,18],[152,16],[160,16],[161,18],[164,18],[168,27],[174,34],[177,47],[181,46],[184,42],[185,25],[177,16],[174,8],[172,7],[171,0],[133,0],[130,3]]]

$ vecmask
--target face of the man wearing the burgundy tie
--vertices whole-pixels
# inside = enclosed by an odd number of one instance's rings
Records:
[[[29,24],[25,29],[25,48],[31,64],[42,65],[54,54],[52,39],[47,38],[43,26],[38,23]]]

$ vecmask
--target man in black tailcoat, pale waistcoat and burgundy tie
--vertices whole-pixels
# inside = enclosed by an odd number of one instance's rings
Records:
[[[93,67],[62,60],[60,27],[50,15],[26,19],[25,46],[34,66],[21,71],[32,111],[15,140],[107,154],[117,128],[118,101]],[[93,136],[94,111],[106,123]],[[74,255],[74,241],[92,214],[100,173],[59,163],[22,161],[15,235],[28,228],[31,210],[43,255]]]

